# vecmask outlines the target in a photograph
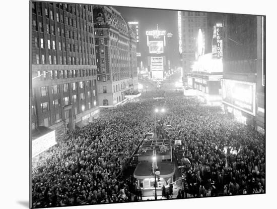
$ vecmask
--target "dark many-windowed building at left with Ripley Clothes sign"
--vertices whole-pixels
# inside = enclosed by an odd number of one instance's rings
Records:
[[[32,1],[30,12],[32,136],[41,127],[59,136],[99,113],[93,10]]]

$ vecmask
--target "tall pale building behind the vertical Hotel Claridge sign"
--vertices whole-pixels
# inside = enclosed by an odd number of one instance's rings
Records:
[[[207,14],[203,12],[178,12],[179,52],[183,68],[183,83],[186,84],[186,74],[191,72],[197,50],[198,30],[203,37],[207,33]]]

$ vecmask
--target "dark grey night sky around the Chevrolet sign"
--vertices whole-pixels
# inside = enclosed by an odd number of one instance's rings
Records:
[[[147,47],[146,31],[156,30],[158,24],[159,30],[166,30],[167,33],[171,32],[173,34],[171,44],[167,44],[165,50],[172,55],[173,64],[178,66],[179,48],[177,11],[134,7],[113,7],[121,13],[126,22],[138,22],[138,36],[140,37],[139,52],[141,52],[142,58],[145,58],[143,59],[144,62],[146,61],[149,50]],[[169,40],[169,38],[167,38],[167,40]]]

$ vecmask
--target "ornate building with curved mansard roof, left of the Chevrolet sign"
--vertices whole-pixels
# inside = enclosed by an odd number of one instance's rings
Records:
[[[123,103],[137,91],[136,32],[112,7],[93,6],[100,107]]]

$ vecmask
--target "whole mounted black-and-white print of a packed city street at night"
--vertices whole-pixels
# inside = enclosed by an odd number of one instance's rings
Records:
[[[261,15],[31,1],[30,206],[265,193],[264,32]]]

